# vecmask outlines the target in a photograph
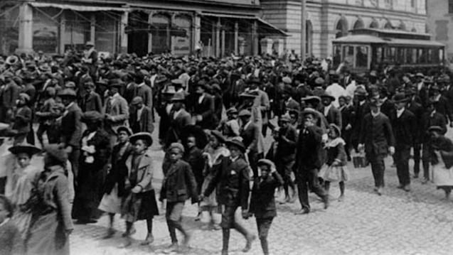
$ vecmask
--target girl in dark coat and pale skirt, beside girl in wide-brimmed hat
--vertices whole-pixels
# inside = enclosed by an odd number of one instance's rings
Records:
[[[99,210],[109,214],[109,229],[105,239],[114,235],[113,219],[115,214],[121,213],[121,200],[124,196],[124,181],[127,176],[126,160],[131,155],[133,148],[129,143],[129,136],[132,131],[126,126],[120,126],[117,129],[118,143],[113,146],[112,150],[112,164],[109,173],[105,179],[104,196],[99,205]]]

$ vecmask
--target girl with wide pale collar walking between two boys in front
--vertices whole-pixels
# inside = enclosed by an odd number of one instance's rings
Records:
[[[206,157],[206,166],[204,173],[204,181],[201,186],[201,194],[208,188],[210,180],[215,176],[223,157],[230,156],[230,151],[224,146],[225,138],[220,131],[210,131],[209,143],[204,149],[203,156]],[[217,202],[218,190],[214,190],[208,197],[204,197],[200,203],[201,207],[201,222],[205,223],[203,229],[208,229],[209,223],[213,223],[215,230],[220,230],[221,208]]]

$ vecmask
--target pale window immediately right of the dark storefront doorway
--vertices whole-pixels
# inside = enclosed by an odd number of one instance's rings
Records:
[[[164,53],[170,50],[170,18],[162,13],[151,18],[152,52]]]

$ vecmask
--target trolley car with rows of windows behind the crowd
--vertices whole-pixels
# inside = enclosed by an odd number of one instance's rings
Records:
[[[332,42],[335,66],[344,63],[353,72],[366,72],[391,65],[430,69],[444,63],[444,45],[427,33],[374,28],[350,32]]]

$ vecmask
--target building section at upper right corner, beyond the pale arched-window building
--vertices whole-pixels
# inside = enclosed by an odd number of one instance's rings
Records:
[[[453,1],[431,0],[427,4],[428,28],[433,40],[445,45],[447,58],[453,58]]]

